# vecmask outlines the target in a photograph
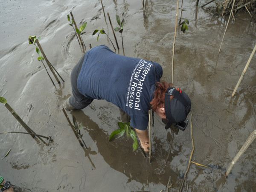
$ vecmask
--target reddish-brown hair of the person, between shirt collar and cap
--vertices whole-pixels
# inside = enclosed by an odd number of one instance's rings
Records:
[[[164,94],[167,88],[170,87],[172,83],[156,82],[156,90],[154,91],[154,99],[149,103],[152,106],[153,111],[157,110],[157,107],[160,107],[164,104]]]

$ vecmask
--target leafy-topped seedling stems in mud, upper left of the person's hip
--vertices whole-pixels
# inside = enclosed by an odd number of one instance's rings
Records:
[[[58,73],[58,71],[56,71],[56,69],[52,66],[52,64],[49,62],[49,60],[47,59],[46,55],[44,54],[43,48],[41,47],[40,43],[39,43],[39,39],[40,37],[36,38],[36,36],[29,36],[29,44],[34,44],[36,48],[38,48],[38,50],[41,51],[41,54],[43,55],[48,67],[50,68],[53,76],[55,77],[56,81],[58,82],[58,84],[60,84],[61,82],[59,81],[58,77],[56,76],[55,72],[58,74],[58,76],[61,78],[61,80],[64,82],[64,80],[62,79],[62,77],[60,76],[60,74]],[[55,72],[54,72],[54,71]]]

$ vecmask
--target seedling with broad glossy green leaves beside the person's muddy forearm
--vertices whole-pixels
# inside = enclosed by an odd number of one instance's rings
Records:
[[[127,122],[127,123],[118,122],[118,125],[119,125],[120,129],[114,130],[111,133],[111,135],[109,136],[108,141],[112,141],[114,136],[117,136],[117,135],[123,136],[126,132],[127,137],[128,138],[131,137],[134,140],[134,143],[132,145],[132,151],[137,150],[138,141],[136,138],[135,131],[131,129],[130,122]]]

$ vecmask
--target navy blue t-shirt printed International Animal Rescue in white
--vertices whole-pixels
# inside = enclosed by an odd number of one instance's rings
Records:
[[[159,82],[163,69],[157,62],[154,65]],[[77,88],[88,98],[105,99],[117,105],[131,117],[131,127],[145,130],[155,89],[154,65],[144,59],[115,54],[100,45],[87,51]]]

